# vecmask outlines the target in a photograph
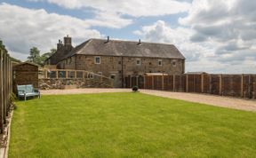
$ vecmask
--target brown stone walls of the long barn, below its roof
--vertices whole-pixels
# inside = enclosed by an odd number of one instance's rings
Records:
[[[122,57],[100,56],[100,64],[94,63],[95,56],[76,55],[71,59],[60,61],[60,68],[77,69],[102,73],[102,75],[115,78],[115,87],[122,83]],[[140,59],[140,65],[136,61]],[[158,61],[162,60],[162,66]],[[174,64],[175,63],[175,64]],[[184,59],[156,59],[123,57],[123,76],[144,75],[145,73],[164,73],[181,75],[185,69]]]

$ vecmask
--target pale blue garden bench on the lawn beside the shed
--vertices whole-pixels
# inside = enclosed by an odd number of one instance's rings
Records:
[[[40,91],[38,89],[35,89],[32,84],[17,85],[17,90],[18,90],[18,99],[24,98],[26,101],[28,97],[37,96],[38,99],[41,98]]]

